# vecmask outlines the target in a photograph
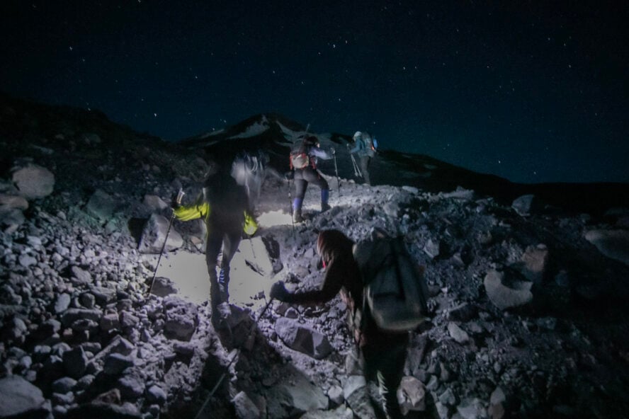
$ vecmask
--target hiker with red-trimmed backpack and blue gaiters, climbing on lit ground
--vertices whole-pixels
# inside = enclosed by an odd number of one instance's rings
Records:
[[[330,150],[334,154],[334,149]],[[317,170],[317,159],[329,160],[332,156],[320,149],[319,139],[314,135],[305,134],[297,148],[290,151],[290,168],[294,171],[295,198],[293,199],[293,222],[302,222],[302,205],[308,183],[321,188],[321,212],[330,209],[328,204],[330,188],[327,180]]]

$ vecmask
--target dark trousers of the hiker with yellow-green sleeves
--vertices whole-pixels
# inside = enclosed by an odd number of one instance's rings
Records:
[[[234,258],[240,244],[242,226],[230,226],[220,222],[208,224],[208,239],[205,246],[205,263],[208,264],[210,274],[210,304],[212,309],[221,303],[220,288],[216,275],[216,265],[222,247],[220,268],[229,272],[229,263]],[[227,287],[227,284],[225,284]]]

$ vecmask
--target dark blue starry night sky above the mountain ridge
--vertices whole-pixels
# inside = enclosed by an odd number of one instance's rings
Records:
[[[164,139],[278,112],[516,182],[629,182],[628,25],[624,1],[4,0],[0,89]]]

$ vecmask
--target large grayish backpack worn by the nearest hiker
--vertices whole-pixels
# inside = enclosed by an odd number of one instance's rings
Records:
[[[359,241],[353,256],[363,276],[363,312],[382,331],[412,331],[428,314],[423,269],[412,260],[402,236]]]

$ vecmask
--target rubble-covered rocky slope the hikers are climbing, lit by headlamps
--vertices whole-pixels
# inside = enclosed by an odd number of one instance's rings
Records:
[[[178,278],[158,277],[148,294],[165,202],[180,187],[193,199],[203,154],[60,112],[0,113],[0,417],[373,417],[340,299],[267,308],[270,282],[259,282],[218,335]],[[318,214],[310,188],[310,218],[294,229],[288,185],[265,183],[263,245],[251,242],[254,273],[239,275],[316,287],[320,229],[403,234],[431,292],[398,394],[409,418],[628,415],[627,209],[597,217],[534,196],[503,205],[469,189],[348,180],[339,194],[329,182],[333,209]],[[198,255],[203,229],[176,222],[166,249]]]

